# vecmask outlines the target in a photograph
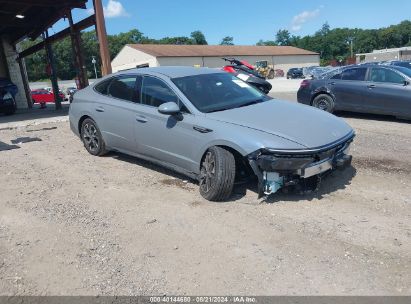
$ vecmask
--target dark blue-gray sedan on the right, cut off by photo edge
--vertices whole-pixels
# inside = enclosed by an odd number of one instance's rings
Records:
[[[323,78],[303,80],[298,102],[337,110],[411,118],[411,70],[398,66],[341,68]]]

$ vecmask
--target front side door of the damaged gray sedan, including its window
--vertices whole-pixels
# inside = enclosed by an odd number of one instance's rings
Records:
[[[141,104],[135,113],[135,138],[138,152],[193,172],[195,147],[200,147],[199,133],[193,129],[195,116],[190,114],[177,94],[163,80],[144,76]],[[158,107],[166,102],[180,106],[179,115],[165,115]]]

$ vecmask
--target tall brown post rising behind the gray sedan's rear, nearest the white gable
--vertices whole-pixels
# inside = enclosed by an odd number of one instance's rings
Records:
[[[103,5],[101,0],[93,0],[94,12],[96,15],[96,32],[100,46],[100,58],[101,58],[101,73],[103,76],[111,74],[111,60],[110,51],[108,49],[106,24],[104,21]]]

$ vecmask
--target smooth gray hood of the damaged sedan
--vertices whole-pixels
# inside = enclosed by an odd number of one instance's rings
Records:
[[[332,114],[276,99],[208,113],[207,117],[282,137],[310,149],[331,144],[353,132],[346,122]]]

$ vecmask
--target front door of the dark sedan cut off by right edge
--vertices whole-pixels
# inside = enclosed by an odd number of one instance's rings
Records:
[[[372,67],[367,82],[366,104],[373,113],[411,114],[411,88],[399,72],[386,67]],[[405,116],[405,115],[404,115]]]

